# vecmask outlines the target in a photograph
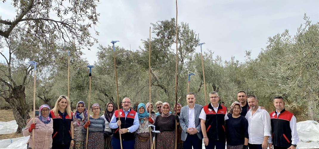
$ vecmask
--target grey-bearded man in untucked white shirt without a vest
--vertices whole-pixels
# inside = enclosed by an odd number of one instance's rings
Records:
[[[271,136],[271,125],[269,113],[258,107],[256,96],[248,97],[250,107],[247,115],[248,120],[248,147],[249,149],[267,149],[268,138]]]

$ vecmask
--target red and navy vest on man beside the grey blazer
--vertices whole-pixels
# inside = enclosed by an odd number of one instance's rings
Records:
[[[223,105],[219,105],[217,113],[211,104],[203,107],[206,113],[206,133],[210,140],[226,141],[225,133],[225,115],[227,109]]]

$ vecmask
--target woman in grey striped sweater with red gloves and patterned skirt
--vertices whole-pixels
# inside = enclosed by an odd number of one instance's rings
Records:
[[[94,103],[91,108],[93,115],[90,116],[90,120],[85,119],[85,124],[82,127],[82,133],[86,134],[86,129],[90,126],[87,139],[87,149],[103,149],[105,121],[104,118],[100,117],[101,108],[99,104]]]

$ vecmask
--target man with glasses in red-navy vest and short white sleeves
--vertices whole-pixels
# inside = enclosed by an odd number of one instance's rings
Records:
[[[199,118],[206,149],[225,149],[225,121],[228,119],[227,109],[219,105],[217,92],[209,93],[210,104],[203,107]]]

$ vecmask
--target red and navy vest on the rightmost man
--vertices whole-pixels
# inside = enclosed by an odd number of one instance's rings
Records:
[[[277,117],[277,112],[270,113],[272,144],[278,147],[291,146],[290,120],[293,113],[283,109]]]

